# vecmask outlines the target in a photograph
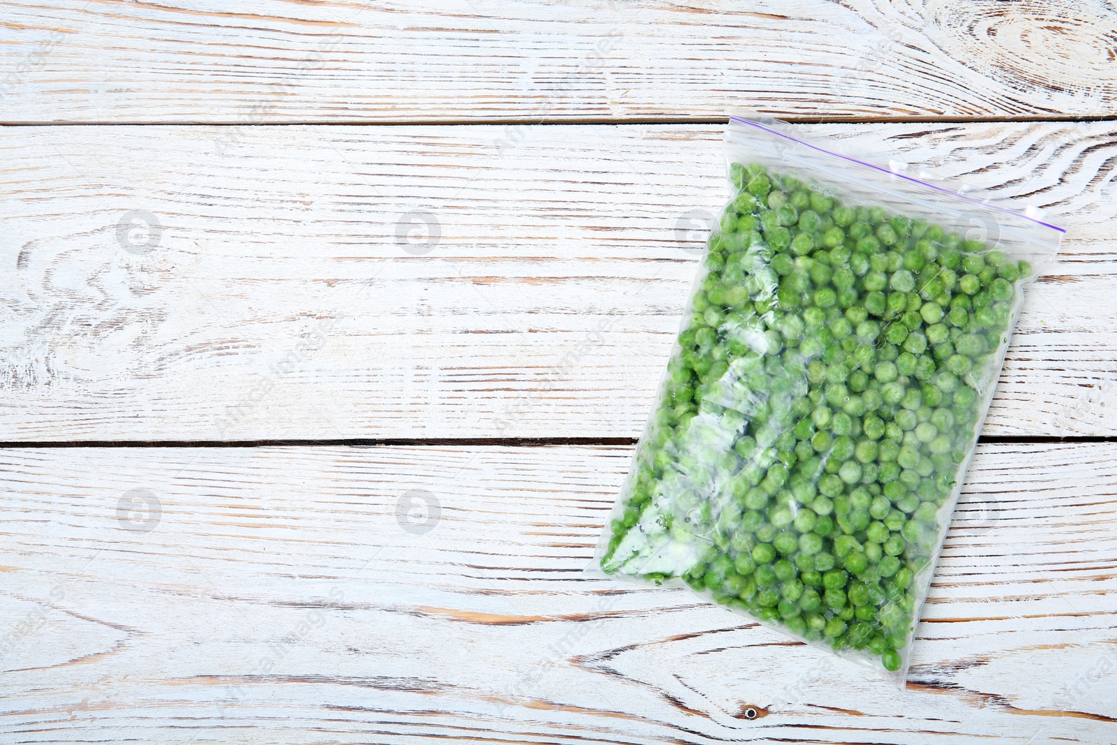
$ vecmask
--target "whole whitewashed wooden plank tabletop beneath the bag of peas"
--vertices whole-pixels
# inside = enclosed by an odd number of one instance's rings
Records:
[[[1115,29],[0,1],[0,742],[1117,743]],[[1068,228],[903,691],[581,574],[738,105]]]

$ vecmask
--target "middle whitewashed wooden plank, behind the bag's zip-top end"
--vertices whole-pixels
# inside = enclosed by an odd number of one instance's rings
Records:
[[[518,132],[3,130],[0,439],[637,436],[720,127]],[[802,132],[1066,223],[985,433],[1117,432],[1113,124]]]

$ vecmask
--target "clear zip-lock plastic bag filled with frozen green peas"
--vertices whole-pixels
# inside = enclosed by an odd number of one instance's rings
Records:
[[[590,571],[903,685],[1022,290],[1060,228],[733,117],[734,197]]]

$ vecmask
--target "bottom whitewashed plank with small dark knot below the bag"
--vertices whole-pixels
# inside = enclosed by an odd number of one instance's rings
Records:
[[[630,455],[0,450],[3,739],[1117,741],[1117,445],[980,448],[906,691],[583,575]]]

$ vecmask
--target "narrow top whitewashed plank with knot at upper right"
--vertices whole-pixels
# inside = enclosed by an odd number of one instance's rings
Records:
[[[1104,0],[0,3],[6,123],[1117,113]]]

